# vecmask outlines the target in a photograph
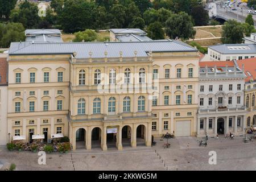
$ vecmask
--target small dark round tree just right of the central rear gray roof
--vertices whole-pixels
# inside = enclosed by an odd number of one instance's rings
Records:
[[[147,28],[147,36],[153,40],[164,39],[164,31],[160,22],[151,23]]]

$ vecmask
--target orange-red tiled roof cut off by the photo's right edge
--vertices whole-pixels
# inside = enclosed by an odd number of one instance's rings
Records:
[[[255,80],[255,78],[256,78],[256,57],[249,58],[249,59],[237,60],[237,64],[240,67],[240,69],[242,69],[242,65],[244,65],[244,67],[245,67],[245,75],[247,76],[245,78],[245,82],[249,82],[251,78],[253,80]]]

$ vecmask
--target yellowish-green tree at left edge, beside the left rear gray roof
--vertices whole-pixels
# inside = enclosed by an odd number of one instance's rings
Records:
[[[25,40],[25,28],[21,23],[0,24],[0,47],[9,47],[11,42]]]

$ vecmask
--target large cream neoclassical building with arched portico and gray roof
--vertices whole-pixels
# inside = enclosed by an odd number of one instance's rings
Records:
[[[179,41],[11,43],[8,133],[73,150],[196,135],[198,51]]]

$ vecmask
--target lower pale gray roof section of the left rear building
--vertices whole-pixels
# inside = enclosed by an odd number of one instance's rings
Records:
[[[27,36],[26,42],[63,42],[60,36],[55,35],[33,35]]]

